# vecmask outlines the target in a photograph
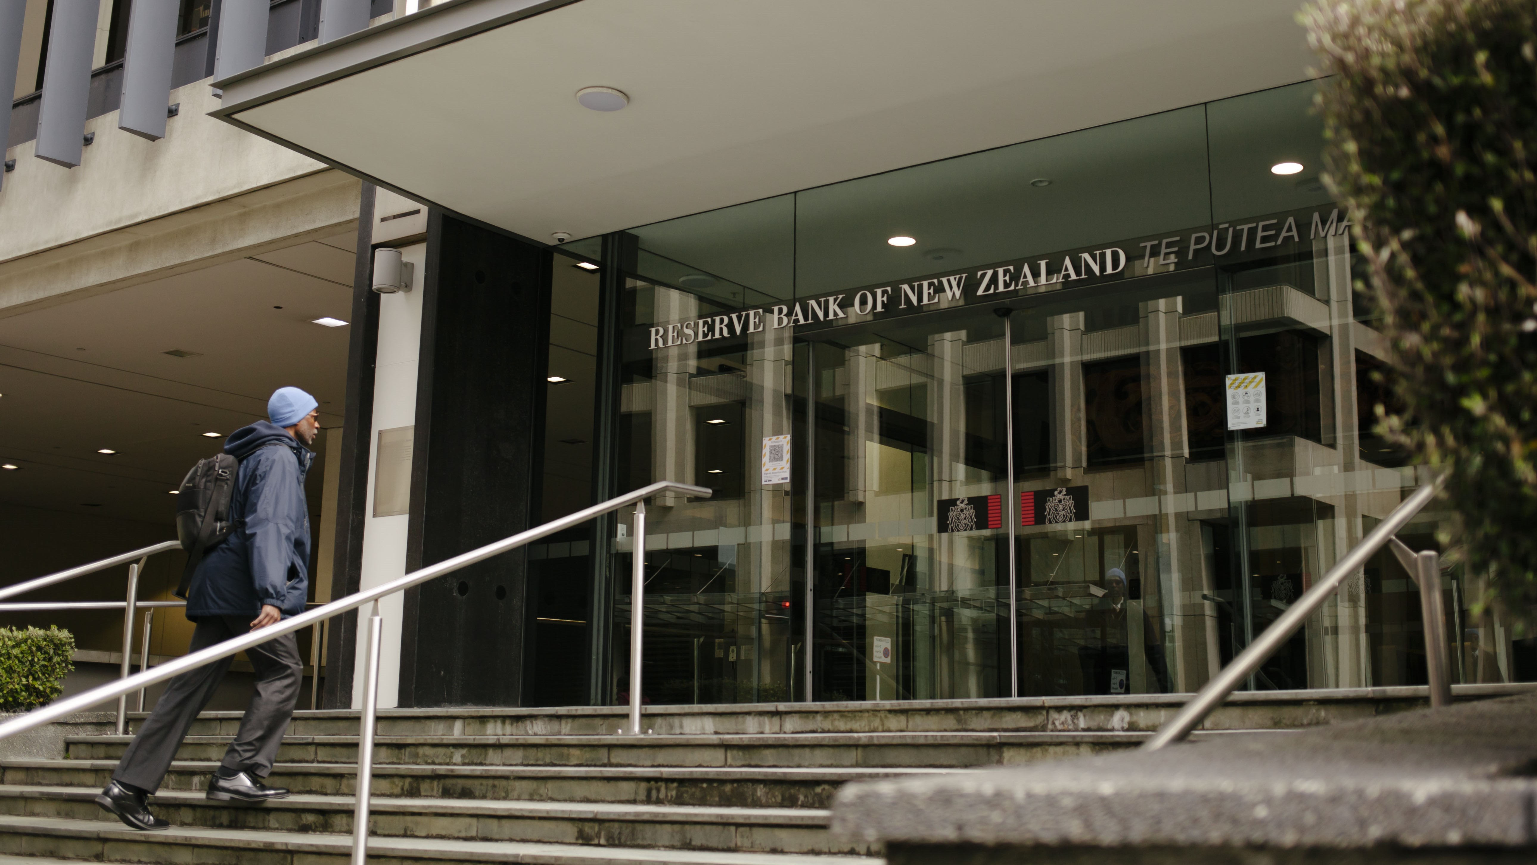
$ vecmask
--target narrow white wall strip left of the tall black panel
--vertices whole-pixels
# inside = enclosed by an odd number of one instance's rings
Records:
[[[421,275],[427,269],[427,244],[401,247],[401,258],[415,266],[412,290],[380,297],[380,338],[373,367],[373,432],[369,441],[369,492],[363,527],[361,588],[389,582],[406,573],[406,529],[410,516],[373,516],[378,430],[417,423],[417,356],[421,344]],[[401,595],[380,602],[384,645],[380,662],[380,707],[400,705]],[[358,610],[358,653],[352,678],[352,707],[363,705],[363,664],[367,658],[369,608]]]

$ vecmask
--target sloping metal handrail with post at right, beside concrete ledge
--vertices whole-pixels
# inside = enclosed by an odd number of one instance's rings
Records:
[[[1202,721],[1211,714],[1225,699],[1231,694],[1251,673],[1257,671],[1260,664],[1270,659],[1291,635],[1302,627],[1302,624],[1311,616],[1325,601],[1334,595],[1346,578],[1357,573],[1371,556],[1377,555],[1379,550],[1388,544],[1394,544],[1394,553],[1403,561],[1405,553],[1411,558],[1405,561],[1405,568],[1414,576],[1416,582],[1420,584],[1420,608],[1425,613],[1425,659],[1431,667],[1429,684],[1431,684],[1431,707],[1442,707],[1451,702],[1451,678],[1446,668],[1446,647],[1443,641],[1432,639],[1436,633],[1445,633],[1445,624],[1437,630],[1436,622],[1442,622],[1443,616],[1440,613],[1442,598],[1440,598],[1440,568],[1439,555],[1434,552],[1409,553],[1408,547],[1394,536],[1400,529],[1408,525],[1409,519],[1426,505],[1436,492],[1440,489],[1442,481],[1432,484],[1425,484],[1423,487],[1414,490],[1409,498],[1403,499],[1399,507],[1388,515],[1386,519],[1377,524],[1362,541],[1356,544],[1339,562],[1334,564],[1323,575],[1323,579],[1317,581],[1313,588],[1302,593],[1302,598],[1286,607],[1268,628],[1260,631],[1254,642],[1248,645],[1231,664],[1222,668],[1190,702],[1179,710],[1174,718],[1167,721],[1159,727],[1157,733],[1151,739],[1142,744],[1144,751],[1157,751],[1170,744],[1180,742],[1185,736],[1190,736],[1191,730],[1200,725]],[[1403,552],[1399,552],[1399,547]],[[1439,651],[1432,647],[1437,647]]]

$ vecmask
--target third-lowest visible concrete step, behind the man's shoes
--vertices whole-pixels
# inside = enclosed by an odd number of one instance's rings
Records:
[[[117,761],[0,761],[0,784],[29,787],[106,787]],[[217,762],[175,762],[161,790],[206,790]],[[827,808],[848,780],[908,777],[951,768],[901,767],[480,767],[377,765],[373,794],[443,799],[526,799],[541,802],[632,802],[646,805],[725,805]],[[352,796],[355,764],[278,764],[267,779],[295,793]]]

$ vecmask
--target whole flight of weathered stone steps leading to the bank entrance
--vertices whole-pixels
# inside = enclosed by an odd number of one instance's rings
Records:
[[[1459,688],[1462,699],[1497,693]],[[386,710],[370,860],[870,863],[878,843],[828,831],[845,782],[1127,750],[1183,699],[655,707],[639,737],[616,734],[624,711],[607,707]],[[1422,705],[1423,688],[1237,694],[1197,736],[1285,734]],[[0,761],[0,863],[346,862],[357,713],[297,713],[269,779],[294,796],[264,805],[201,793],[238,721],[198,719],[154,799],[172,822],[160,833],[132,831],[92,802],[126,736],[97,727],[66,734],[66,753]]]

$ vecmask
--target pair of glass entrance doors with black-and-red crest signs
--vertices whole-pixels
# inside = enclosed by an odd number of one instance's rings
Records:
[[[1160,693],[1220,662],[1211,277],[1073,295],[813,344],[815,699]]]

